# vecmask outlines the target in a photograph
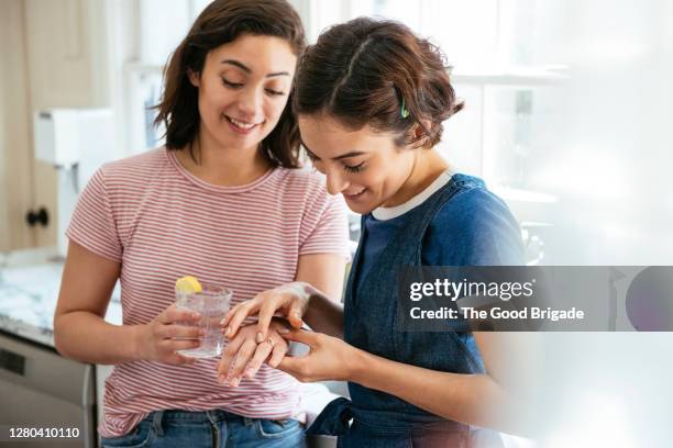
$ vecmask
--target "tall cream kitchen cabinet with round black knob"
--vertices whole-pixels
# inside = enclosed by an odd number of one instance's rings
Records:
[[[109,103],[107,5],[0,2],[0,251],[56,242],[57,173],[34,158],[33,116]],[[26,213],[40,208],[52,215],[48,223],[29,226]]]

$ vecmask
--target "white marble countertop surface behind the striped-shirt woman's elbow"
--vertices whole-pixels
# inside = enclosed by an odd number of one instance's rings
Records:
[[[0,259],[0,331],[54,347],[54,311],[63,261],[53,249],[23,250]],[[106,321],[121,324],[119,290]]]

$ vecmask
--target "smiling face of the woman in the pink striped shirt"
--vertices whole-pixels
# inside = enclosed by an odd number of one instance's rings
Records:
[[[297,56],[279,37],[242,35],[206,56],[200,74],[200,135],[221,147],[256,149],[276,126],[290,91]]]

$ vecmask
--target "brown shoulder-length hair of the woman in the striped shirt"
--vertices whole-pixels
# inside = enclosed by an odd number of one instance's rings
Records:
[[[242,34],[275,36],[286,40],[300,56],[306,47],[304,26],[285,0],[214,0],[197,18],[180,45],[170,55],[164,70],[165,88],[154,121],[166,127],[166,147],[192,152],[199,132],[198,88],[188,72],[200,74],[208,52],[235,41]],[[260,150],[272,166],[299,166],[299,130],[288,105],[278,124],[260,143]],[[194,156],[194,153],[192,153]]]

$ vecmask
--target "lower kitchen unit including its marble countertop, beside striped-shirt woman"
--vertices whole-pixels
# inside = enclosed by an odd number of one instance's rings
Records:
[[[21,446],[95,447],[100,418],[97,392],[102,393],[110,367],[78,362],[56,352],[53,318],[63,264],[53,259],[53,249],[34,249],[14,251],[0,262],[0,422],[79,430],[76,443],[47,439]],[[106,320],[121,323],[119,290]]]

